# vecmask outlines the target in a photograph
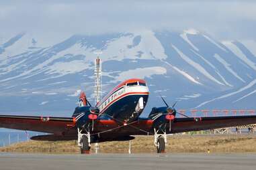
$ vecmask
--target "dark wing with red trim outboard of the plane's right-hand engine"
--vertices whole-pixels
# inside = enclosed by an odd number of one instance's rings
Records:
[[[256,124],[256,115],[253,116],[214,116],[201,118],[175,118],[171,123],[171,133],[187,131],[202,131],[245,124]],[[169,129],[169,125],[168,129]],[[170,132],[169,132],[170,133]]]

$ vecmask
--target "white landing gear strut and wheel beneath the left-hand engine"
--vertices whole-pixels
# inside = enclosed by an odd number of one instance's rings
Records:
[[[78,131],[78,140],[77,145],[81,149],[81,154],[89,154],[91,149],[91,135],[89,131],[86,131],[86,133],[83,133],[83,129],[77,129]]]

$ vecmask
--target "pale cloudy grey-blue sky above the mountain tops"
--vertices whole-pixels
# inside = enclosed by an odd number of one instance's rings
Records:
[[[0,1],[0,36],[67,36],[197,29],[216,39],[256,39],[256,1]]]

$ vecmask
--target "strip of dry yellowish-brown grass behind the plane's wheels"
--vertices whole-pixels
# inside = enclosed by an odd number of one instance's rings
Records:
[[[155,153],[153,137],[136,137],[132,153]],[[253,135],[173,135],[168,137],[167,153],[256,153],[256,137]],[[99,144],[100,153],[128,153],[129,141]],[[92,152],[94,145],[92,147]],[[75,141],[29,141],[0,147],[0,152],[22,153],[79,153]]]

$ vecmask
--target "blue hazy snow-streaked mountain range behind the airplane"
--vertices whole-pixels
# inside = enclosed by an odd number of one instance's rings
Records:
[[[163,105],[159,93],[170,103],[178,100],[177,108],[255,106],[253,40],[217,41],[194,29],[72,35],[50,43],[42,35],[19,33],[0,40],[1,112],[68,116],[80,90],[93,101],[97,51],[103,52],[104,94],[122,80],[146,80],[151,94],[144,115]]]

